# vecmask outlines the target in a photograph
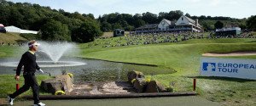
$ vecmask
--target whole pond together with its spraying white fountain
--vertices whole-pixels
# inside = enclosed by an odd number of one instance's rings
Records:
[[[71,42],[42,42],[38,47],[37,63],[51,75],[61,75],[62,70],[67,70],[73,75],[74,81],[124,81],[129,70],[145,70],[150,74],[159,70],[161,74],[170,73],[170,69],[162,69],[155,66],[124,64],[108,62],[96,59],[75,58],[79,48]],[[18,47],[16,56],[0,59],[0,74],[15,74],[15,68],[19,64],[20,57],[28,49],[27,45]],[[72,55],[71,55],[72,54]]]

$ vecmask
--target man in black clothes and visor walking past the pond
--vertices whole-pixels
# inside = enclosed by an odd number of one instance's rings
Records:
[[[20,59],[20,63],[18,64],[18,67],[16,69],[15,80],[19,81],[20,71],[22,66],[24,66],[23,77],[25,80],[25,84],[24,86],[20,87],[19,90],[8,96],[8,102],[10,105],[14,104],[15,97],[29,90],[29,87],[32,87],[34,106],[45,106],[44,103],[40,103],[39,101],[39,86],[35,76],[36,70],[44,73],[44,71],[40,69],[36,62],[35,53],[38,51],[38,45],[38,42],[36,42],[35,40],[28,42],[29,50],[24,53]]]

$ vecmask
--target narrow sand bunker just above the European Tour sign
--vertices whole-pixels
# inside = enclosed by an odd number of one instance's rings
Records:
[[[221,56],[253,56],[256,55],[256,52],[233,52],[233,53],[203,53],[202,56],[212,56],[212,57],[221,57]]]

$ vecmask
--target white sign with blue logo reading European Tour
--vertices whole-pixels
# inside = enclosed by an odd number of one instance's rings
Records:
[[[256,59],[201,58],[200,75],[256,80]]]

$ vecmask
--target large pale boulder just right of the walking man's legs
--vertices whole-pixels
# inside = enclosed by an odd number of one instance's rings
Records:
[[[65,94],[72,92],[73,81],[69,75],[57,75],[54,79],[47,79],[41,82],[41,88],[46,92],[55,94],[56,91],[63,91]]]

